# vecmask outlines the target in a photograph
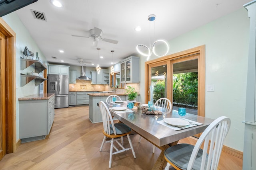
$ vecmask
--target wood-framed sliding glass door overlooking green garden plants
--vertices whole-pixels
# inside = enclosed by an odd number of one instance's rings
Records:
[[[174,109],[186,107],[188,113],[204,116],[204,45],[148,61],[145,74],[146,103],[150,101],[149,86],[154,85],[154,102],[165,97]]]

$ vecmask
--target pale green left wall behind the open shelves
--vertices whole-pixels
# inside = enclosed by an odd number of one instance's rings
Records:
[[[32,80],[28,84],[23,87],[20,87],[20,73],[26,74],[27,72],[31,72],[34,70],[32,66],[26,68],[24,70],[20,70],[20,57],[22,57],[22,51],[27,46],[29,51],[34,52],[34,59],[36,57],[36,52],[38,52],[38,57],[46,63],[47,61],[40,51],[35,41],[32,39],[30,33],[23,25],[23,23],[18,18],[15,12],[12,12],[6,16],[2,17],[4,21],[12,28],[12,30],[16,33],[16,140],[20,138],[19,135],[19,102],[18,98],[37,94],[38,86],[35,86],[35,81]],[[28,108],[29,109],[29,108]]]

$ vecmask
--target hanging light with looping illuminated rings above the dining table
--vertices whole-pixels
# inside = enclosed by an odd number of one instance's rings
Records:
[[[156,19],[156,16],[155,16],[154,14],[151,14],[151,15],[148,16],[148,21],[150,21],[150,28],[152,27],[152,25],[151,25],[152,21],[154,21],[155,19]],[[149,37],[151,38],[150,35],[149,35]],[[158,54],[156,54],[155,45],[156,45],[156,43],[158,43],[158,42],[162,42],[162,43],[164,43],[164,44],[166,45],[166,53],[164,53],[164,55],[158,55]],[[146,53],[143,53],[142,51],[140,51],[139,47],[146,47],[146,49],[147,49],[146,51],[147,51],[147,52],[146,52]],[[167,41],[165,41],[165,40],[163,40],[163,39],[158,39],[158,40],[156,40],[156,41],[153,43],[153,45],[151,45],[151,41],[149,40],[149,47],[147,47],[146,45],[143,45],[143,44],[139,44],[139,45],[137,45],[136,50],[137,50],[138,53],[140,53],[141,55],[146,56],[146,57],[147,57],[147,61],[148,61],[148,59],[149,59],[149,57],[152,55],[152,53],[154,53],[154,55],[156,55],[157,57],[163,57],[163,56],[165,56],[165,55],[168,53],[168,51],[169,51],[169,45],[168,45]]]

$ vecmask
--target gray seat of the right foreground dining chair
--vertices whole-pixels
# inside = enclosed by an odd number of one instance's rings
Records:
[[[194,145],[182,143],[166,149],[164,151],[164,156],[167,160],[172,162],[172,164],[174,164],[178,168],[182,170],[186,170],[188,167],[188,162],[190,160],[190,156],[192,154],[193,149],[194,149]],[[203,150],[199,149],[192,170],[200,170],[202,153],[203,153]],[[208,156],[206,155],[205,162],[207,162],[207,160],[208,160]]]

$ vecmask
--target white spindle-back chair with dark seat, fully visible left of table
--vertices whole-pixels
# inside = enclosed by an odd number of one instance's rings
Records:
[[[132,146],[132,141],[129,136],[132,129],[127,125],[125,125],[124,123],[114,123],[108,107],[102,101],[100,101],[100,112],[102,114],[103,134],[104,134],[104,138],[100,146],[100,152],[102,150],[104,143],[111,143],[110,156],[109,156],[109,168],[111,168],[113,154],[118,154],[126,150],[132,149],[132,154],[134,158],[136,158],[136,155]],[[130,144],[130,148],[124,148],[124,146],[119,142],[120,137],[123,137],[123,136],[127,136],[128,142]],[[111,140],[107,141],[106,140],[107,137],[111,138]],[[121,150],[118,150],[118,148],[114,145],[114,141],[116,141],[116,143],[122,148]],[[113,152],[113,148],[116,150],[116,152]]]

